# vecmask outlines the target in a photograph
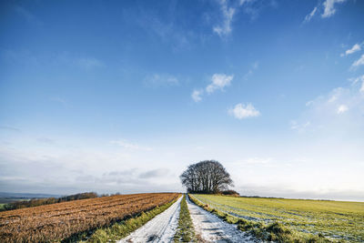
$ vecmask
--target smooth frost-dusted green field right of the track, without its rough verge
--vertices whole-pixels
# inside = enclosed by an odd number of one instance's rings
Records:
[[[239,218],[265,223],[278,221],[299,232],[321,233],[327,238],[351,242],[364,241],[362,202],[212,195],[194,197],[211,208]]]

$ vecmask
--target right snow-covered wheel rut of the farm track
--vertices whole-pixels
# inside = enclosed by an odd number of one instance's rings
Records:
[[[191,215],[196,236],[199,242],[255,242],[236,225],[228,224],[221,218],[198,207],[187,198],[187,206]]]

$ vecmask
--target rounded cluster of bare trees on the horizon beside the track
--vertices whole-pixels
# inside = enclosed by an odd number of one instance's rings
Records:
[[[180,178],[188,193],[219,193],[233,186],[227,170],[216,160],[190,165]]]

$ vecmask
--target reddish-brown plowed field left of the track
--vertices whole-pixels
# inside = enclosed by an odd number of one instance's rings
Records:
[[[164,205],[179,195],[118,195],[0,212],[0,241],[60,241]]]

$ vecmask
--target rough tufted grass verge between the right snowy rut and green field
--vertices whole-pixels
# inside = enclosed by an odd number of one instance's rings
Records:
[[[188,195],[188,197],[193,201],[197,206],[204,208],[210,213],[215,214],[218,218],[222,218],[227,221],[229,224],[237,224],[238,228],[242,231],[247,231],[251,235],[256,238],[262,240],[276,241],[276,242],[339,242],[333,241],[329,238],[325,238],[322,235],[313,235],[308,233],[302,233],[291,228],[288,228],[281,223],[273,222],[270,224],[264,224],[261,222],[256,222],[253,220],[247,220],[243,218],[238,218],[231,216],[227,213],[221,212],[215,208],[210,208],[207,204],[203,204],[197,200],[197,198]],[[340,241],[342,242],[342,241]]]

